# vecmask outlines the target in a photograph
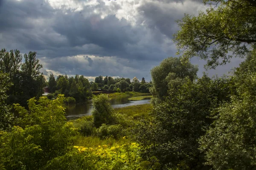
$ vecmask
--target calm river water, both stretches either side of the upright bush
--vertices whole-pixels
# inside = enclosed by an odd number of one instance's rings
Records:
[[[150,98],[145,98],[143,100],[138,101],[130,101],[128,100],[129,97],[119,97],[110,101],[113,108],[123,108],[126,106],[132,105],[143,105],[150,103]],[[68,120],[70,119],[78,119],[81,116],[90,115],[90,112],[93,108],[92,102],[87,101],[83,103],[79,103],[76,105],[68,105],[66,106],[66,117]]]

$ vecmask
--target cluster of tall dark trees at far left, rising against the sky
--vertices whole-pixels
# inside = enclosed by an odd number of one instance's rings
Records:
[[[40,72],[42,67],[36,59],[36,52],[30,51],[29,54],[22,56],[18,50],[0,51],[0,72],[7,74],[12,82],[7,91],[7,103],[26,105],[28,99],[44,93],[46,81]]]

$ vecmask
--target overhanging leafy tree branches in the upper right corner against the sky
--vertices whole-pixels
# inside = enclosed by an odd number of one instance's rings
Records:
[[[174,39],[183,59],[198,56],[215,68],[232,57],[244,57],[255,45],[256,5],[254,0],[204,0],[208,2],[206,12],[178,21],[181,29]]]

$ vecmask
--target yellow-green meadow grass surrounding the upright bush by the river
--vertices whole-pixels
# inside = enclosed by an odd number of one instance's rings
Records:
[[[89,130],[90,135],[77,135],[74,137],[74,145],[84,146],[84,147],[97,147],[98,145],[106,144],[111,146],[113,144],[122,144],[130,141],[131,128],[136,125],[140,119],[150,119],[149,113],[152,111],[153,107],[151,104],[144,105],[134,105],[124,108],[115,108],[114,112],[117,118],[117,124],[122,125],[122,130],[126,136],[125,139],[121,136],[118,139],[113,139],[111,137],[101,139],[96,135],[96,128],[91,126],[93,123],[93,116],[84,116],[76,120],[72,120],[73,125],[79,129]],[[90,123],[91,122],[91,123]],[[127,139],[128,137],[128,139]],[[132,142],[132,141],[131,141]]]

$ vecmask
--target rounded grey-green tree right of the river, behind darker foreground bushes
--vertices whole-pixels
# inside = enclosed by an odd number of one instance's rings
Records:
[[[172,79],[189,77],[190,80],[194,80],[196,78],[198,67],[190,62],[182,64],[180,59],[177,57],[166,58],[151,70],[153,84],[151,93],[155,99],[163,100],[168,95],[168,82]]]

